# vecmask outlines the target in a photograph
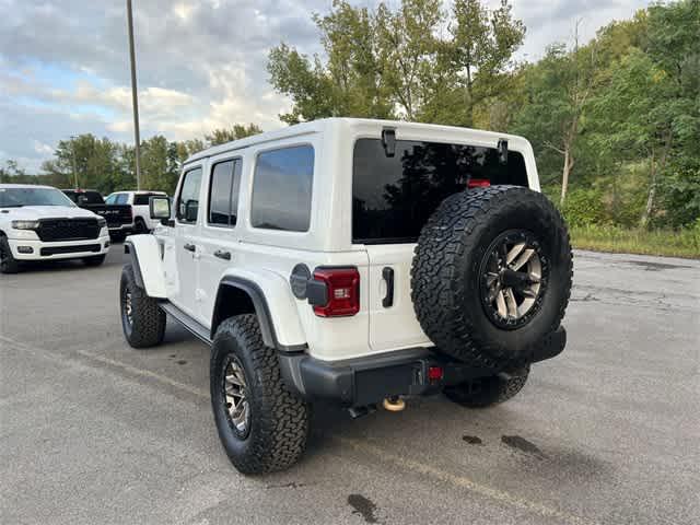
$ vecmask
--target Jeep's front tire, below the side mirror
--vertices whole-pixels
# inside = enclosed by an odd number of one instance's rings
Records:
[[[130,319],[126,311],[127,294],[131,298]],[[167,316],[159,307],[158,301],[149,298],[145,290],[136,283],[131,265],[125,265],[121,270],[119,311],[124,336],[131,347],[154,347],[163,341]]]

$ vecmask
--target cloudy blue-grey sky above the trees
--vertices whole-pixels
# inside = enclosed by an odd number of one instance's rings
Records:
[[[494,5],[499,0],[486,0]],[[388,5],[399,0],[388,0]],[[374,7],[374,0],[353,4]],[[582,42],[598,27],[632,16],[644,0],[513,0],[527,27],[518,59],[547,45]],[[141,137],[202,137],[255,122],[282,127],[290,102],[266,70],[284,42],[320,51],[312,13],[331,0],[132,0]],[[93,133],[131,143],[133,127],[126,0],[0,0],[0,165],[31,173],[59,140]]]

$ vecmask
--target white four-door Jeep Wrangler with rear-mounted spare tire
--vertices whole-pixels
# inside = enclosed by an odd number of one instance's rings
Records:
[[[127,240],[124,332],[166,314],[212,346],[211,402],[242,472],[302,454],[310,404],[366,413],[439,392],[515,395],[559,354],[572,256],[529,143],[503,133],[326,119],[211,148],[171,215]]]

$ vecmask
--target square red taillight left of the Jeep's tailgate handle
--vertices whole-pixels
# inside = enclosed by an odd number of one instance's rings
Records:
[[[357,268],[316,268],[313,279],[326,289],[325,304],[314,304],[319,317],[343,317],[360,312],[360,272]]]

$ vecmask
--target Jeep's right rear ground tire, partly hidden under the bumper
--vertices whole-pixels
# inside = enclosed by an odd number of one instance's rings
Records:
[[[457,405],[467,408],[486,408],[508,401],[523,389],[527,382],[529,366],[509,375],[491,375],[445,387],[444,394]]]

